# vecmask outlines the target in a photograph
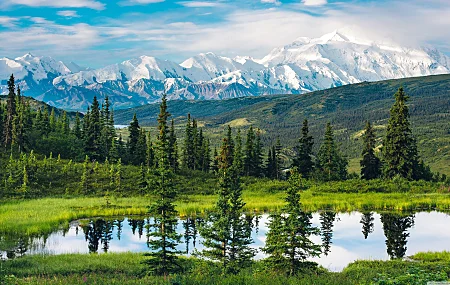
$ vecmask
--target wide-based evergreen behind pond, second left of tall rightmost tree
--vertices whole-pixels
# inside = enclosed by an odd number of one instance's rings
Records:
[[[318,176],[324,181],[344,180],[347,178],[347,164],[334,142],[333,129],[328,123],[323,143],[317,153]]]

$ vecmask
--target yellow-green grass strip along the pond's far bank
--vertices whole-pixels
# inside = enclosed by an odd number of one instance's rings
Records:
[[[427,193],[318,193],[302,194],[305,210],[330,209],[338,212],[356,210],[450,210],[450,194]],[[247,211],[271,211],[282,207],[282,192],[244,191]],[[211,209],[215,195],[186,195],[177,202],[180,215],[201,215]],[[151,197],[113,198],[107,205],[105,198],[44,198],[9,201],[0,205],[0,233],[27,235],[49,233],[68,222],[89,217],[144,215]]]

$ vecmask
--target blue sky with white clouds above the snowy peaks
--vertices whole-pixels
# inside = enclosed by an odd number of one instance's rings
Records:
[[[0,57],[29,52],[92,68],[141,55],[262,58],[349,27],[450,55],[449,0],[0,0]]]

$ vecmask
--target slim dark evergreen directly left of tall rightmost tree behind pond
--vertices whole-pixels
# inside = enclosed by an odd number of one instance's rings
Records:
[[[375,138],[375,130],[370,122],[367,122],[363,135],[363,158],[360,161],[361,178],[367,180],[375,179],[381,176],[381,161],[375,155]]]

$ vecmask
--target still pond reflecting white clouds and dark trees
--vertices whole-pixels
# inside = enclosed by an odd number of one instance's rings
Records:
[[[16,258],[44,253],[146,252],[146,225],[150,220],[142,217],[88,219],[73,221],[67,229],[47,236],[0,237],[0,255]],[[253,219],[252,247],[264,246],[268,221],[267,214]],[[197,230],[200,222],[201,218],[179,220],[178,232],[183,238],[178,249],[186,255],[203,248]],[[312,222],[321,232],[312,239],[322,244],[324,253],[311,260],[332,271],[340,271],[360,259],[387,260],[421,251],[450,250],[450,216],[445,213],[321,212],[313,214]],[[259,250],[255,258],[264,258],[264,253]]]

